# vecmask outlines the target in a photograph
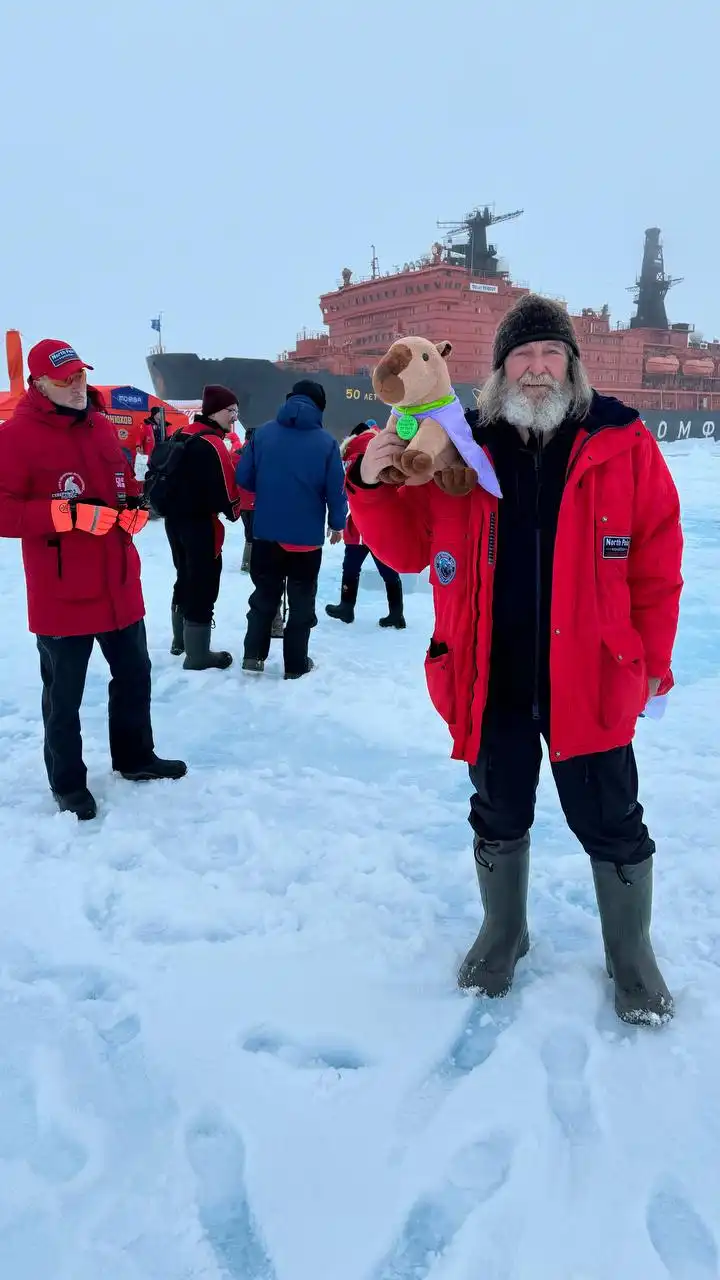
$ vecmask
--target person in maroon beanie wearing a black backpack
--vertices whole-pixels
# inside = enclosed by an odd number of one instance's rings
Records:
[[[241,494],[224,438],[237,421],[237,396],[227,387],[202,392],[202,412],[160,445],[149,470],[151,503],[159,500],[176,566],[173,654],[184,653],[186,671],[225,669],[232,654],[210,649],[213,611],[220,590],[224,527],[236,521]]]

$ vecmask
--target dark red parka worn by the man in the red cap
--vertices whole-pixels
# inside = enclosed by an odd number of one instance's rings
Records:
[[[53,498],[118,509],[141,493],[104,413],[78,421],[29,388],[0,425],[0,538],[22,539],[31,631],[97,635],[143,617],[132,539],[118,526],[102,538],[58,534],[50,512]]]

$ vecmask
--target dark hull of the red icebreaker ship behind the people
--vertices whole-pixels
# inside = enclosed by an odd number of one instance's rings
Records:
[[[325,426],[338,439],[369,417],[383,425],[387,406],[379,401],[369,378],[343,376],[325,370],[304,372],[297,367],[283,369],[270,360],[201,360],[200,356],[167,352],[147,357],[155,394],[167,401],[200,401],[208,383],[229,387],[238,399],[240,420],[245,428],[261,426],[273,419],[293,384],[300,378],[313,378],[323,384],[327,396]],[[456,384],[462,404],[474,404],[473,387]],[[630,397],[628,397],[630,398]],[[720,412],[711,410],[642,410],[641,416],[656,439],[671,444],[676,440],[720,440]]]

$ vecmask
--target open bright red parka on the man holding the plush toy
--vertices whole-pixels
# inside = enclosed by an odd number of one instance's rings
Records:
[[[498,499],[479,486],[450,498],[430,483],[361,489],[348,476],[354,520],[375,556],[400,573],[430,566],[430,699],[450,727],[454,759],[478,759],[489,678]],[[502,500],[502,499],[500,499]],[[648,677],[671,686],[682,531],[678,494],[639,421],[579,429],[555,540],[551,605],[553,760],[632,741]]]

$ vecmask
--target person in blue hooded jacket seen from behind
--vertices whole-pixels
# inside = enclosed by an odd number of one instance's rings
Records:
[[[323,426],[325,392],[302,379],[273,422],[254,433],[237,463],[241,489],[255,494],[255,518],[245,660],[260,673],[270,650],[273,618],[287,580],[288,618],[283,636],[286,680],[313,669],[310,631],[318,623],[315,598],[325,524],[340,543],[347,520],[345,470],[337,440]]]

